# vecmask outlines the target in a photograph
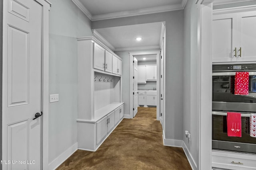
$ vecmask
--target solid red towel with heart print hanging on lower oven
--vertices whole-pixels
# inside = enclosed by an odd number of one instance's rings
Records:
[[[227,132],[229,137],[242,137],[241,113],[227,113]]]

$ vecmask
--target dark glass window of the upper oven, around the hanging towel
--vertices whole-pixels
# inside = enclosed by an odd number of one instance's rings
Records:
[[[234,95],[235,76],[212,76],[213,102],[256,103],[256,76],[249,76],[249,95]]]

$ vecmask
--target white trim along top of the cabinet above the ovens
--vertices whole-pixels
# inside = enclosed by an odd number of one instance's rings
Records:
[[[236,12],[249,12],[249,11],[255,11],[255,10],[256,10],[256,5],[239,6],[234,8],[224,8],[219,10],[213,10],[213,15],[230,14],[230,13],[236,13]]]

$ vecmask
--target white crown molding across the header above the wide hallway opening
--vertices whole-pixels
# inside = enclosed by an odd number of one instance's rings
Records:
[[[154,14],[154,13],[158,13],[158,12],[168,12],[168,11],[183,10],[183,9],[184,8],[182,7],[181,4],[157,6],[157,7],[152,7],[152,8],[142,8],[139,10],[94,15],[94,16],[92,16],[92,21],[108,20],[108,19],[113,19],[113,18],[122,18],[122,17],[138,16],[138,15],[145,15],[145,14]]]

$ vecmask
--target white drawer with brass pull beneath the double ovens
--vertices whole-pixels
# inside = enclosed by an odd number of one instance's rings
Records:
[[[243,158],[212,155],[212,167],[232,170],[255,170],[256,161]]]

